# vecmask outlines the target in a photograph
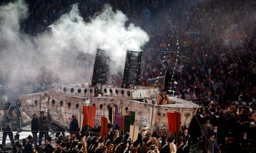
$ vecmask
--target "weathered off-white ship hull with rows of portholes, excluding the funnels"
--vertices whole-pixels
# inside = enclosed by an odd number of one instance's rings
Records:
[[[69,92],[71,89],[72,92]],[[78,92],[77,92],[78,91]],[[84,91],[84,92],[81,92]],[[86,91],[86,92],[85,92]],[[189,127],[198,105],[191,101],[169,96],[174,104],[156,105],[158,91],[154,88],[124,89],[105,87],[102,96],[94,97],[94,88],[65,88],[64,92],[42,92],[20,95],[21,105],[28,116],[40,111],[47,112],[51,123],[66,130],[69,128],[72,115],[82,112],[83,105],[95,105],[95,128],[101,126],[101,116],[109,117],[109,107],[119,109],[120,115],[127,115],[127,110],[135,112],[135,123],[151,130],[168,130],[167,112],[181,113],[181,126]],[[37,101],[37,102],[36,102]]]

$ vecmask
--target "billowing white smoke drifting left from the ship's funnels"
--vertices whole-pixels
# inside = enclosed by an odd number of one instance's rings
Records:
[[[28,16],[28,6],[22,1],[0,6],[0,71],[9,70],[10,84],[14,86],[21,80],[35,80],[43,67],[64,83],[90,82],[94,62],[86,67],[78,58],[83,52],[85,62],[94,60],[100,48],[110,52],[110,72],[123,72],[126,51],[142,51],[149,37],[132,24],[126,28],[128,18],[121,11],[114,13],[106,5],[101,12],[86,23],[74,5],[49,30],[33,37],[22,33],[19,24]],[[41,76],[44,81],[50,77]]]

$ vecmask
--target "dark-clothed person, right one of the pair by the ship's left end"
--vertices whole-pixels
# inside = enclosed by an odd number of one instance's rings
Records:
[[[47,119],[44,116],[44,111],[40,112],[40,117],[38,119],[38,125],[39,125],[39,146],[41,146],[43,136],[44,136],[45,140],[48,136]]]

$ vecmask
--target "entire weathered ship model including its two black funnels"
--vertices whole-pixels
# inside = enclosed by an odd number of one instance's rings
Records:
[[[97,54],[103,53],[98,49]],[[123,83],[136,84],[140,71],[138,65],[140,60],[135,60],[132,56],[137,56],[138,53],[128,51],[127,59],[128,66],[125,66]],[[102,56],[102,54],[101,54]],[[106,83],[105,76],[108,76],[108,68],[97,63],[97,56],[94,64],[93,81],[91,84],[101,84],[100,94],[95,95],[95,87],[87,83],[78,84],[63,84],[60,89],[50,89],[40,93],[32,93],[29,95],[20,95],[20,102],[24,111],[29,117],[34,113],[40,114],[40,111],[47,113],[48,120],[55,123],[59,127],[66,130],[69,128],[72,115],[79,116],[82,113],[83,106],[95,106],[95,125],[93,128],[101,126],[101,116],[107,117],[109,123],[114,124],[113,119],[109,119],[111,108],[118,108],[119,115],[127,115],[127,111],[135,112],[135,122],[133,125],[138,127],[147,126],[152,131],[165,129],[168,130],[167,113],[180,113],[180,126],[189,127],[192,117],[197,111],[198,105],[192,101],[178,99],[174,96],[169,96],[173,104],[158,105],[156,101],[159,96],[159,89],[155,86],[140,87],[134,85],[133,88],[118,88]],[[140,57],[141,58],[141,57]],[[98,65],[97,65],[98,64]],[[102,66],[104,68],[102,68]],[[140,66],[140,65],[139,65]],[[101,70],[98,70],[101,69]],[[97,74],[95,72],[101,72]],[[102,74],[102,72],[104,74]],[[151,80],[151,82],[158,81],[158,78]],[[113,116],[113,115],[112,115]]]

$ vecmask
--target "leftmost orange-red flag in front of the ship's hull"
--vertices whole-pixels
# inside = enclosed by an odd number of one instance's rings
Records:
[[[95,112],[95,106],[83,106],[83,127],[89,125],[90,127],[94,128]]]

